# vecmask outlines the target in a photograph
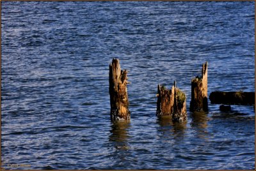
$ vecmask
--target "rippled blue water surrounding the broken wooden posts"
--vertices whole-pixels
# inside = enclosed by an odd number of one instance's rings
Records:
[[[255,168],[253,107],[156,117],[157,84],[177,80],[188,109],[205,61],[208,94],[255,91],[254,2],[1,4],[4,168]],[[113,57],[129,70],[130,122],[110,121]]]

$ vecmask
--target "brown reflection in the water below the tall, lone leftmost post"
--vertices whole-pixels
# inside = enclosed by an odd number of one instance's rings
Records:
[[[127,130],[130,127],[130,121],[115,121],[111,125],[111,135],[109,136],[109,141],[113,142],[113,146],[117,150],[128,150],[129,146],[127,145]]]

